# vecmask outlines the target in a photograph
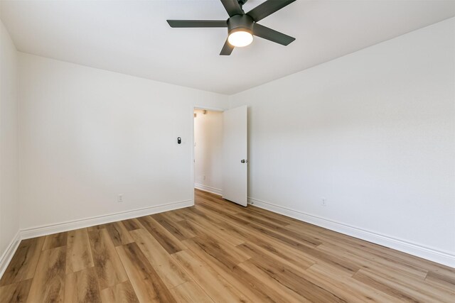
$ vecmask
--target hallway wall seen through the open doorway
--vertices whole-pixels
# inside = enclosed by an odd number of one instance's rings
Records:
[[[194,111],[194,170],[199,189],[221,194],[223,176],[223,112]]]

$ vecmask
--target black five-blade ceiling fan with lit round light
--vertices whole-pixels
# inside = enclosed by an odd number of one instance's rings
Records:
[[[263,18],[284,8],[296,0],[267,0],[245,13],[242,6],[248,0],[220,0],[229,14],[228,20],[168,20],[171,28],[228,28],[228,39],[220,55],[230,55],[235,47],[250,45],[253,35],[281,45],[288,45],[296,40],[258,24]]]

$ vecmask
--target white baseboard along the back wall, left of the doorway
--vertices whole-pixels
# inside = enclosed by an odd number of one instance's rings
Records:
[[[36,226],[32,228],[25,228],[21,230],[21,238],[35,238],[38,236],[46,236],[52,233],[61,233],[63,231],[72,231],[78,228],[106,224],[125,219],[137,218],[139,216],[148,216],[149,214],[157,214],[164,211],[171,211],[173,209],[181,209],[183,207],[193,206],[194,200],[186,200],[181,202],[173,202],[168,204],[161,204],[156,206],[145,207],[142,209],[134,209],[132,211],[122,211],[116,214],[107,214],[103,216],[94,216],[87,219],[79,219],[73,221],[66,221],[58,224],[50,224],[44,226]]]

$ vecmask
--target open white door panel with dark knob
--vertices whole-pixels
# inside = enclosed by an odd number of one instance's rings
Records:
[[[247,106],[223,112],[223,198],[247,206]]]

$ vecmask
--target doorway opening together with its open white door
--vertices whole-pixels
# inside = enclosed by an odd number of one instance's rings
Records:
[[[247,206],[247,106],[192,114],[193,186]]]

